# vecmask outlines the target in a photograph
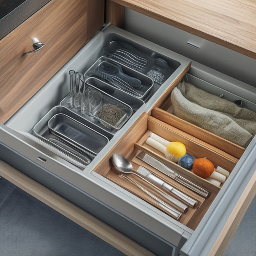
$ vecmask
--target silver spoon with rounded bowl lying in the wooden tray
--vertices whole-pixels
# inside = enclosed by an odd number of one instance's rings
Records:
[[[130,173],[134,174],[137,177],[144,180],[146,183],[150,184],[152,187],[155,188],[155,190],[162,196],[164,196],[172,205],[179,208],[179,210],[185,212],[187,210],[187,206],[177,200],[176,198],[172,197],[171,195],[168,195],[164,191],[160,190],[154,183],[151,183],[150,181],[146,180],[143,176],[139,175],[138,173],[134,172],[133,165],[128,161],[128,159],[124,158],[122,155],[114,154],[112,156],[112,163],[115,167],[115,169],[122,173]],[[193,199],[194,200],[194,199]]]

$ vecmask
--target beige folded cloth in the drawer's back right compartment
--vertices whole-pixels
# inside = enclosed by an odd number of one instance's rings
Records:
[[[168,110],[213,134],[246,147],[256,134],[256,113],[186,82],[171,93]]]

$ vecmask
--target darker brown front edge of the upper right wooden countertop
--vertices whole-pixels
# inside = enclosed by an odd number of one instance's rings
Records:
[[[161,15],[160,13],[158,13],[157,11],[155,12],[155,10],[151,11],[150,8],[146,9],[146,8],[141,7],[139,5],[135,5],[135,4],[132,3],[133,0],[109,0],[109,1],[112,2],[112,3],[119,4],[123,7],[129,8],[131,10],[134,10],[136,12],[140,12],[140,13],[146,15],[146,16],[154,18],[154,19],[156,19],[158,21],[161,21],[163,23],[166,23],[166,24],[172,25],[174,27],[177,27],[179,29],[182,29],[182,30],[184,30],[188,33],[191,33],[191,34],[195,35],[195,36],[202,37],[202,38],[204,38],[208,41],[214,42],[214,43],[219,44],[221,46],[224,46],[228,49],[232,49],[232,50],[234,50],[236,52],[239,52],[241,54],[244,54],[244,55],[246,55],[250,58],[256,59],[256,45],[253,45],[252,47],[250,47],[250,49],[248,49],[247,47],[245,47],[246,42],[244,43],[243,40],[241,40],[239,43],[232,43],[231,42],[232,38],[235,38],[236,35],[232,35],[232,37],[229,37],[230,41],[225,40],[225,39],[221,38],[220,34],[218,33],[218,27],[215,27],[216,33],[213,33],[213,32],[212,33],[206,33],[206,32],[203,32],[202,30],[200,30],[198,28],[195,28],[192,25],[183,24],[182,22],[180,22],[178,20],[178,18],[176,18],[176,19],[171,18],[167,14],[166,14],[166,16],[164,16],[164,15]],[[158,2],[158,1],[156,1],[156,2]],[[181,10],[181,12],[182,11],[183,10]],[[114,18],[113,18],[113,20],[114,20]],[[223,22],[225,22],[224,19],[223,19]],[[235,26],[235,24],[236,24],[236,22],[234,21],[234,26]],[[219,27],[219,29],[221,29],[221,28]],[[251,38],[249,38],[249,39],[251,39]],[[246,37],[244,37],[244,40],[246,41]]]

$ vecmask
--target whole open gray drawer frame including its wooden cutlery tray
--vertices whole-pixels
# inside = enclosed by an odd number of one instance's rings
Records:
[[[34,125],[68,94],[68,70],[85,73],[102,55],[101,49],[106,40],[113,38],[113,35],[119,35],[134,42],[135,45],[141,45],[160,56],[171,58],[179,65],[162,85],[154,84],[154,93],[151,97],[134,111],[122,129],[110,137],[109,143],[92,162],[81,169],[25,137],[23,133],[29,133]],[[236,145],[227,142],[230,149],[225,150],[226,146],[219,146],[222,145],[222,141],[214,144],[197,136],[196,127],[192,129],[194,133],[189,131],[190,128],[182,129],[184,126],[179,127],[171,123],[172,118],[170,119],[165,111],[167,101],[172,89],[183,79],[190,65],[189,59],[110,25],[105,31],[99,31],[34,97],[4,125],[1,124],[0,157],[157,255],[178,255],[181,250],[187,255],[199,255],[204,250],[209,251],[207,247],[211,248],[218,239],[224,224],[254,175],[256,160],[253,156],[256,153],[256,138],[246,150],[240,148],[239,154],[233,154],[232,152],[239,148]],[[196,65],[192,65],[189,72],[192,72]],[[210,69],[206,70],[208,73],[214,73]],[[231,79],[231,82],[234,81]],[[161,110],[163,113],[158,116],[157,112]],[[223,185],[216,186],[164,160],[163,155],[145,145],[150,132],[162,135],[168,140],[171,140],[170,134],[176,134],[175,136],[184,144],[189,145],[191,152],[196,148],[196,154],[207,152],[207,157],[212,157],[216,165],[224,164],[223,168],[231,173],[230,176]],[[214,137],[212,140],[219,141],[220,138]],[[110,162],[113,153],[122,154],[131,160],[136,170],[142,165],[136,158],[142,149],[170,164],[176,172],[208,190],[210,196],[206,199],[191,193],[185,187],[143,164],[162,179],[166,179],[166,182],[198,201],[197,206],[188,208],[181,219],[175,220],[170,217],[166,211],[160,210],[154,201],[132,184],[128,185],[128,181],[124,182],[113,171]],[[138,179],[136,181],[146,186]]]

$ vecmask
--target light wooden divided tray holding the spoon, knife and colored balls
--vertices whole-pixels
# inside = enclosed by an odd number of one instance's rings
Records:
[[[207,157],[211,159],[215,167],[219,165],[222,168],[228,170],[229,172],[232,171],[238,159],[234,158],[233,156],[223,152],[222,150],[214,146],[208,145],[206,142],[201,141],[190,134],[186,134],[173,126],[166,124],[162,121],[159,121],[158,119],[148,116],[146,113],[144,113],[137,120],[137,122],[134,123],[134,125],[129,129],[129,131],[127,131],[122,136],[119,142],[110,150],[106,157],[102,159],[102,161],[95,168],[94,171],[96,171],[98,174],[118,184],[120,187],[127,190],[128,192],[140,197],[150,205],[158,208],[159,210],[164,211],[166,214],[169,214],[167,211],[159,208],[155,200],[146,195],[133,183],[130,183],[130,181],[127,181],[125,178],[122,178],[119,175],[120,173],[118,173],[113,167],[113,164],[111,162],[111,156],[117,153],[121,154],[125,158],[128,158],[128,160],[133,164],[134,171],[136,171],[139,168],[139,166],[145,167],[146,169],[154,173],[156,176],[164,180],[166,183],[171,184],[174,188],[180,190],[184,194],[189,195],[190,197],[197,200],[197,205],[195,207],[188,207],[188,210],[184,212],[181,218],[178,220],[187,227],[195,230],[198,223],[201,221],[201,219],[207,212],[208,207],[211,205],[212,201],[218,194],[220,187],[208,182],[205,179],[198,177],[191,171],[183,169],[178,164],[175,164],[170,160],[167,160],[164,157],[164,155],[160,153],[158,150],[148,146],[145,143],[145,141],[151,132],[158,134],[167,140],[178,140],[183,142],[187,147],[187,151],[193,153],[195,158]],[[159,172],[153,167],[150,167],[139,158],[136,158],[136,156],[141,151],[146,152],[147,154],[157,158],[158,160],[162,161],[164,164],[169,166],[173,171],[176,171],[178,174],[182,175],[184,178],[206,189],[208,192],[210,192],[209,197],[204,198],[200,195],[195,194],[193,191],[177,183],[175,180]],[[130,177],[132,177],[141,186],[145,187],[152,194],[158,195],[155,192],[154,188],[152,188],[150,185],[145,183],[140,178],[136,177],[134,174],[125,175],[131,175]],[[174,195],[172,196],[175,197]],[[165,201],[164,197],[159,195],[158,197],[161,200]]]

